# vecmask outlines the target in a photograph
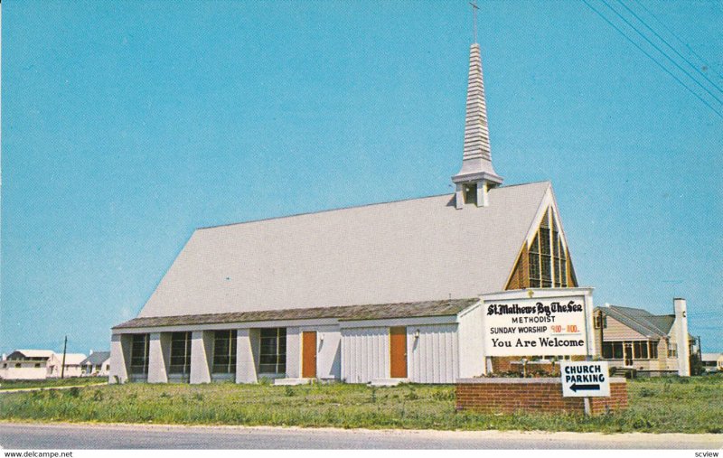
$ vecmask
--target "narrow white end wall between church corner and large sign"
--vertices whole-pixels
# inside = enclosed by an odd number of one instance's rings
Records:
[[[471,379],[487,373],[483,321],[484,307],[481,305],[459,315],[460,379]]]

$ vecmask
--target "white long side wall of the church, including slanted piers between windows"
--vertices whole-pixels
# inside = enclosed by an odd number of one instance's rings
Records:
[[[259,330],[262,327],[286,328],[286,378],[301,377],[302,332],[316,332],[316,376],[319,379],[342,379],[349,383],[366,383],[390,378],[390,326],[407,326],[408,379],[419,383],[453,383],[459,377],[460,349],[455,316],[395,318],[369,322],[254,322],[253,328],[239,324],[166,327],[163,332],[150,328],[114,334],[111,341],[111,381],[128,379],[131,332],[149,332],[148,378],[150,383],[168,381],[171,332],[192,332],[191,383],[212,381],[212,335],[215,329],[237,330],[237,383],[255,383],[258,373]],[[482,339],[479,316],[468,313],[465,321],[469,339]],[[419,330],[419,338],[414,334]],[[160,331],[160,330],[158,330]],[[477,332],[478,335],[474,335]],[[122,345],[121,345],[122,343]],[[465,348],[477,348],[473,343]],[[470,350],[467,350],[468,352]],[[474,350],[477,352],[478,350]],[[482,367],[483,362],[476,361]],[[471,367],[476,367],[471,366]],[[474,369],[468,369],[474,370]],[[478,374],[476,374],[478,375]]]

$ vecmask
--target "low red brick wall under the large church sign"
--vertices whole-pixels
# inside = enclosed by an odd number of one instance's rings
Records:
[[[585,413],[582,397],[562,397],[562,384],[555,379],[458,379],[457,410],[511,414],[517,411]],[[590,397],[592,415],[627,408],[627,385],[623,378],[610,379],[610,397]]]

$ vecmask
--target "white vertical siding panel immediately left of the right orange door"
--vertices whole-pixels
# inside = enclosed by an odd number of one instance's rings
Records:
[[[389,327],[342,330],[342,379],[368,383],[390,378]]]

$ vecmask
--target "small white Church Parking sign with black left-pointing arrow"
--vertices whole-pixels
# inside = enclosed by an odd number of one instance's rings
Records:
[[[562,397],[609,397],[607,361],[560,361]]]

